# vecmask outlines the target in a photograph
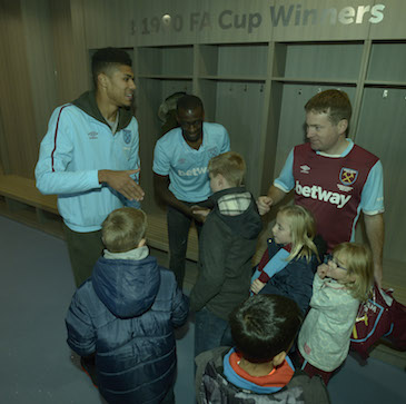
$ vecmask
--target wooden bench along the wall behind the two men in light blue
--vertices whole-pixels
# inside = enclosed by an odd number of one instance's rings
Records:
[[[33,179],[14,175],[0,175],[0,214],[65,238],[62,219],[58,213],[57,196],[42,195]],[[166,215],[148,215],[148,244],[169,252]],[[189,231],[187,258],[197,260],[198,239],[196,229]]]

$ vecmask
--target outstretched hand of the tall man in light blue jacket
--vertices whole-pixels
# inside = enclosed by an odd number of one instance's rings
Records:
[[[116,189],[129,200],[142,200],[145,191],[142,188],[130,177],[133,174],[139,173],[139,168],[136,170],[99,170],[99,183],[106,183],[109,187]]]

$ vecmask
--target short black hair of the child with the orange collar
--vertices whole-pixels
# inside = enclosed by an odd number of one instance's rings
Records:
[[[242,357],[251,363],[265,363],[289,351],[301,319],[300,308],[290,298],[255,295],[231,313],[229,324]]]

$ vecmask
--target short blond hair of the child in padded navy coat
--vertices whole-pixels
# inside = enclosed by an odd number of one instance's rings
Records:
[[[101,235],[110,253],[137,248],[147,230],[147,215],[141,209],[125,207],[111,211],[101,225]]]

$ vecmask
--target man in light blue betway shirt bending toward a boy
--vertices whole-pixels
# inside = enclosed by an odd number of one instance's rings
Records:
[[[157,141],[154,152],[154,185],[158,198],[167,206],[169,268],[182,288],[190,224],[198,234],[202,216],[194,206],[206,206],[211,195],[207,171],[209,160],[229,151],[230,140],[219,124],[204,122],[200,98],[186,95],[177,102],[175,128]]]

